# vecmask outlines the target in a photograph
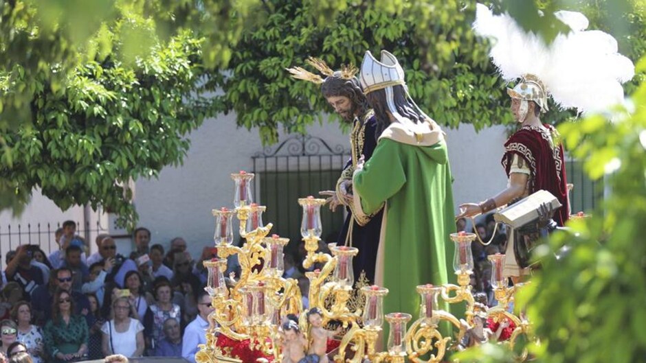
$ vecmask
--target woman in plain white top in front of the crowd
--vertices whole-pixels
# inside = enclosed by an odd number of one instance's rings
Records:
[[[129,298],[120,297],[112,303],[114,318],[103,325],[102,349],[105,355],[121,354],[128,358],[144,353],[144,326],[129,317]]]

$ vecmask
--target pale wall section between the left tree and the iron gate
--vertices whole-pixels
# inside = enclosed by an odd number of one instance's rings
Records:
[[[348,136],[337,124],[317,124],[308,132],[331,145],[343,144],[349,149]],[[258,130],[236,127],[235,115],[206,120],[190,139],[190,151],[182,167],[167,167],[159,180],[137,181],[135,205],[140,225],[151,229],[151,244],[167,247],[170,239],[181,236],[192,255],[198,257],[203,246],[213,244],[211,210],[233,207],[234,183],[230,174],[252,170],[252,156],[262,151],[263,145]]]

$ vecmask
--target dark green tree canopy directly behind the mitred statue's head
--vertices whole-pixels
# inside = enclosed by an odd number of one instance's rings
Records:
[[[238,124],[259,127],[268,143],[276,141],[280,126],[303,132],[330,108],[320,86],[291,79],[285,68],[304,66],[308,56],[337,69],[359,67],[368,49],[399,57],[412,97],[439,123],[479,129],[511,121],[486,44],[470,30],[474,4],[416,1],[392,5],[392,14],[372,3],[346,3],[322,25],[322,3],[271,1],[267,21],[244,32],[234,47],[233,73],[223,84],[225,107],[236,112]]]

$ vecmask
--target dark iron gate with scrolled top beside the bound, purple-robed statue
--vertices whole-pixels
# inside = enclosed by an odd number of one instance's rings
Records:
[[[337,179],[350,159],[343,145],[331,147],[320,137],[293,135],[275,147],[252,156],[256,174],[256,196],[267,206],[265,223],[274,224],[272,233],[290,239],[293,248],[300,237],[302,209],[298,198],[320,197],[322,190],[334,190]],[[322,238],[334,242],[342,229],[344,213],[321,209]]]

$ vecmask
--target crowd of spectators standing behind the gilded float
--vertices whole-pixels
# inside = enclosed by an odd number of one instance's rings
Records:
[[[504,253],[504,231],[494,233],[493,218],[473,231],[489,246],[472,244],[474,293],[495,305],[491,264],[487,255]],[[467,228],[458,220],[458,231]],[[151,245],[151,233],[139,228],[133,252],[124,256],[109,235],[96,237],[97,252],[76,235],[76,224],[63,223],[56,231],[60,249],[49,256],[36,245],[21,245],[6,254],[0,290],[0,363],[25,354],[31,362],[63,363],[96,360],[108,355],[128,358],[161,356],[194,362],[198,344],[205,343],[208,315],[213,311],[204,291],[207,271],[202,261],[216,257],[203,248],[199,259],[188,253],[186,241],[176,237]],[[285,274],[298,280],[308,307],[309,280],[304,277],[304,246],[285,253]],[[326,250],[321,242],[320,248]],[[227,277],[240,275],[230,260]],[[16,345],[18,344],[18,345]]]

